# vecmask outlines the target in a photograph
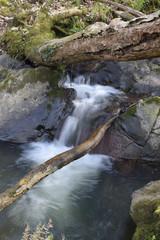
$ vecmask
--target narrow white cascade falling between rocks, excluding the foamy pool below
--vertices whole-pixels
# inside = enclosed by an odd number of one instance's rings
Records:
[[[66,145],[74,138],[74,145],[77,145],[82,131],[90,124],[92,117],[107,107],[110,96],[121,92],[110,86],[90,85],[89,79],[85,83],[83,76],[75,78],[74,82],[67,77],[65,87],[75,89],[76,99],[73,101],[72,116],[66,119],[59,141]]]

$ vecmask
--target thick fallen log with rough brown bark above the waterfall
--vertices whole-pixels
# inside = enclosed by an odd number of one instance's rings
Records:
[[[66,66],[95,59],[129,61],[160,56],[160,11],[128,22],[96,24],[45,42],[29,54],[30,60],[45,66]]]

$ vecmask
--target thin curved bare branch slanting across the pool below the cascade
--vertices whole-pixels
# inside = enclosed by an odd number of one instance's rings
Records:
[[[73,162],[74,160],[84,156],[91,151],[102,139],[105,131],[109,128],[111,123],[118,117],[117,115],[110,118],[104,125],[96,129],[92,136],[86,142],[72,148],[64,153],[61,153],[40,166],[34,168],[22,179],[20,179],[15,185],[7,189],[0,194],[0,211],[10,205],[12,202],[20,198],[29,189],[31,189],[36,183],[54,173],[63,166]]]

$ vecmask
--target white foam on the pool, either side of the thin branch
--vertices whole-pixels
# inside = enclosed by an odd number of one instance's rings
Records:
[[[18,164],[22,166],[28,162],[35,167],[68,149],[57,142],[32,143],[24,149]],[[33,187],[11,208],[9,216],[18,225],[26,221],[34,223],[45,220],[51,215],[57,222],[62,221],[64,215],[72,222],[74,220],[69,217],[72,205],[76,204],[79,198],[88,198],[90,191],[99,181],[101,171],[111,169],[112,163],[108,156],[87,154]]]

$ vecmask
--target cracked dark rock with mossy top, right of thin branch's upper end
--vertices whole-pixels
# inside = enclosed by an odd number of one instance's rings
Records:
[[[160,161],[159,131],[160,98],[140,100],[106,132],[98,152],[114,158]]]

